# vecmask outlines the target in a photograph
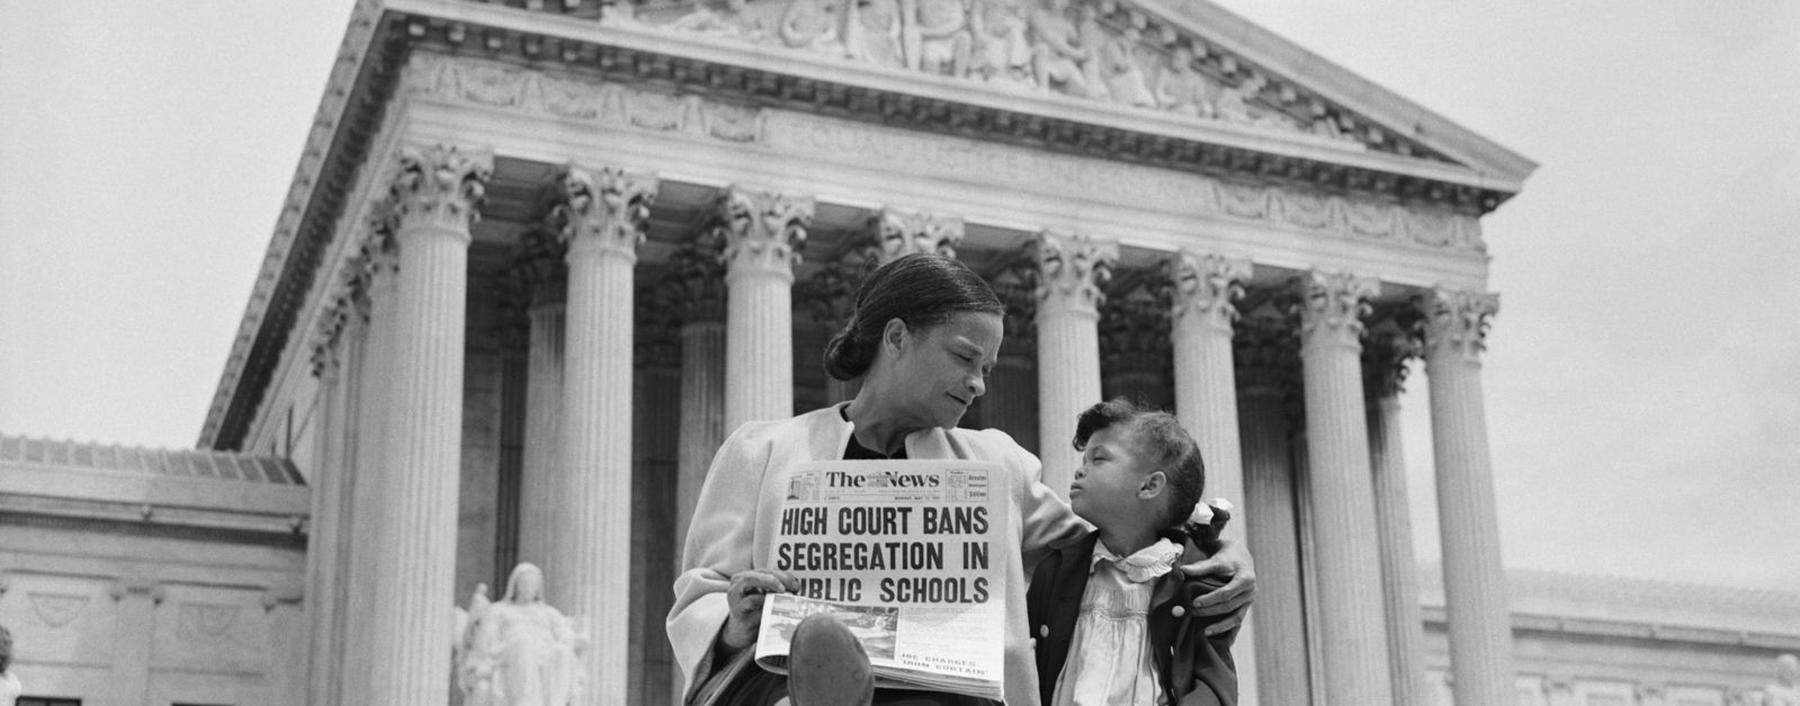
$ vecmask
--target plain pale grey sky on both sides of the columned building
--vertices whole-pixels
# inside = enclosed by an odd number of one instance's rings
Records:
[[[1507,564],[1800,591],[1800,4],[1224,5],[1543,164],[1485,220]],[[0,432],[194,443],[347,13],[0,2]]]

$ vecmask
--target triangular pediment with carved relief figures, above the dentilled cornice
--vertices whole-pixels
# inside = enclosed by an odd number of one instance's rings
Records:
[[[1201,0],[648,0],[619,9],[601,23],[1328,140],[1465,167],[1503,191],[1535,167]]]

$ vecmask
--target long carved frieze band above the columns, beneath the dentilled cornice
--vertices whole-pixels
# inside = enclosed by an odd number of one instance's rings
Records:
[[[815,155],[859,166],[877,164],[893,173],[983,175],[999,187],[1082,195],[1100,202],[1190,216],[1298,227],[1336,238],[1483,250],[1474,218],[1449,211],[817,119],[715,103],[702,95],[673,95],[598,79],[544,76],[493,61],[430,52],[414,54],[407,72],[412,95],[452,103],[610,128],[677,131],[707,140],[760,144],[779,153]]]

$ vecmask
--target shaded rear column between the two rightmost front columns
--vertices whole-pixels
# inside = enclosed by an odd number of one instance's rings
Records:
[[[1418,355],[1408,321],[1381,317],[1363,348],[1363,393],[1368,416],[1368,452],[1375,490],[1375,539],[1381,546],[1382,598],[1388,614],[1388,659],[1393,702],[1431,702],[1426,684],[1424,618],[1418,611],[1418,564],[1413,560],[1413,520],[1406,492],[1406,454],[1400,447],[1400,393],[1408,360]]]

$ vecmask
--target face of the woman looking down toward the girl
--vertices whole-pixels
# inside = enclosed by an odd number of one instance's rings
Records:
[[[999,357],[1001,335],[1001,315],[979,312],[902,331],[898,344],[886,335],[884,346],[895,353],[886,369],[891,409],[918,429],[956,427],[968,405],[988,391],[986,376]]]

